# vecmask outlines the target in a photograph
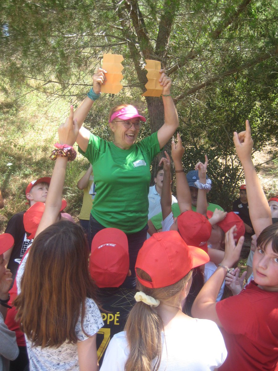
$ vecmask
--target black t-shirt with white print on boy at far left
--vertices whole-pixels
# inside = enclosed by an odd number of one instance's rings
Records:
[[[8,221],[5,233],[10,233],[14,238],[14,246],[11,252],[10,260],[7,268],[13,274],[13,281],[16,276],[17,268],[21,259],[33,240],[28,240],[23,224],[23,215],[26,211],[14,214]]]

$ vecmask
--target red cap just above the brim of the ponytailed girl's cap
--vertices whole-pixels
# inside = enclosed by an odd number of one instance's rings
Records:
[[[178,230],[183,240],[208,252],[207,241],[211,236],[211,223],[200,213],[189,210],[178,216]]]

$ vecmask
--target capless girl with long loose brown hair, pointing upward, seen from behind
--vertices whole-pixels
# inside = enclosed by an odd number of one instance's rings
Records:
[[[16,319],[25,334],[30,369],[96,371],[96,332],[103,322],[88,271],[87,240],[82,227],[59,220],[67,161],[76,156],[73,106],[58,132],[60,144],[50,157],[56,163],[45,208],[17,272]],[[38,213],[31,216],[39,219]]]

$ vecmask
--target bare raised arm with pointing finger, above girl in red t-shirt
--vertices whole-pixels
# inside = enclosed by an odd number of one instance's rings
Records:
[[[239,134],[234,132],[234,144],[236,154],[244,170],[249,216],[255,234],[259,236],[262,230],[272,224],[272,219],[267,198],[251,158],[253,140],[248,120],[245,121],[245,127],[246,130]]]

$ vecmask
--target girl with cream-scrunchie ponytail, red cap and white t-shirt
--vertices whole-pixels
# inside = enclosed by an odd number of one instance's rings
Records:
[[[155,233],[143,244],[135,264],[136,304],[125,331],[110,341],[100,371],[204,371],[224,362],[217,326],[182,313],[192,269],[208,260],[176,231]]]

